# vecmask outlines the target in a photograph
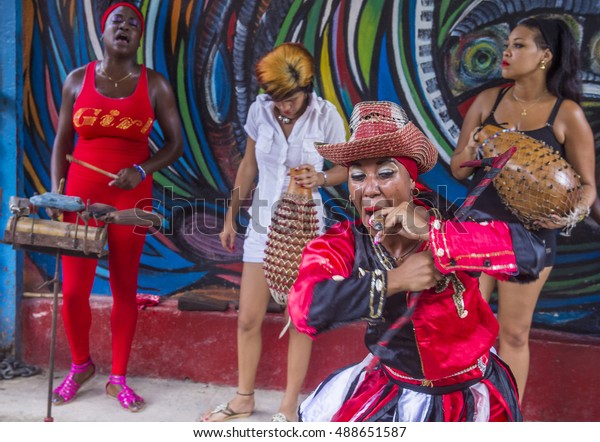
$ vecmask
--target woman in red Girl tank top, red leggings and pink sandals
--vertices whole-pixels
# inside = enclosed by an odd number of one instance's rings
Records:
[[[144,31],[141,12],[132,4],[116,3],[106,10],[101,23],[103,60],[75,69],[63,86],[52,151],[52,190],[57,191],[66,177],[67,195],[119,210],[141,208],[151,204],[152,172],[167,167],[182,153],[179,114],[167,80],[136,61]],[[150,155],[148,137],[155,120],[165,141]],[[118,178],[107,178],[76,163],[68,167],[66,154],[70,153]],[[75,214],[65,213],[64,220],[76,222]],[[113,359],[106,392],[130,411],[144,405],[125,379],[137,321],[137,278],[144,241],[145,232],[139,227],[108,226]],[[55,405],[71,402],[95,373],[89,349],[89,296],[96,265],[94,259],[63,257],[62,314],[73,362],[54,390]]]

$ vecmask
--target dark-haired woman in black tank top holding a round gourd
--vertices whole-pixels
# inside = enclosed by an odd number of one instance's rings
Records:
[[[566,158],[581,176],[579,209],[587,213],[596,200],[594,137],[578,104],[582,92],[578,68],[578,48],[562,20],[532,17],[521,21],[502,54],[502,76],[512,84],[484,90],[471,105],[451,160],[454,177],[465,180],[473,175],[473,185],[481,180],[483,170],[460,165],[477,157],[483,141],[477,139],[481,126],[501,125],[544,141]],[[476,219],[518,222],[493,185],[486,188],[473,209]],[[532,232],[546,249],[546,266],[538,279],[527,283],[495,281],[487,276],[480,279],[481,292],[488,300],[497,284],[499,353],[515,375],[521,401],[529,371],[529,331],[535,305],[552,270],[559,226],[546,223],[541,227]],[[528,253],[523,246],[522,250]]]

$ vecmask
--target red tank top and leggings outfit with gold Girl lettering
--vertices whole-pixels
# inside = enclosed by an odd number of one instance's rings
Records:
[[[148,137],[154,122],[154,110],[144,66],[133,94],[109,98],[96,90],[96,63],[88,64],[81,92],[73,106],[73,126],[78,135],[73,156],[116,174],[149,158]],[[109,204],[119,210],[152,205],[150,176],[132,190],[109,186],[110,181],[111,178],[72,163],[65,194],[79,196],[84,202]],[[76,214],[66,212],[64,219],[76,222]],[[145,239],[145,231],[140,227],[108,226],[108,267],[113,296],[112,373],[115,375],[125,375],[127,371],[137,322],[138,269]],[[65,330],[73,362],[83,364],[90,358],[89,296],[97,260],[64,256],[62,263]]]

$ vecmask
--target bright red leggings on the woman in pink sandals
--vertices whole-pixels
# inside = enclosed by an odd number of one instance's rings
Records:
[[[80,196],[90,203],[110,204],[119,210],[150,205],[151,179],[133,190],[108,187],[70,174],[67,195]],[[76,214],[66,212],[64,220],[75,222]],[[146,239],[145,229],[135,226],[108,226],[108,269],[113,297],[111,313],[112,374],[125,375],[137,323],[137,284],[140,257]],[[73,362],[83,364],[90,358],[92,314],[90,294],[98,260],[63,256],[62,316]]]

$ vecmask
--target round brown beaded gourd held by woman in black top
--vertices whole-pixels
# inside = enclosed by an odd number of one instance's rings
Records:
[[[580,177],[558,152],[535,138],[494,125],[482,128],[482,138],[485,158],[516,146],[493,183],[502,202],[527,228],[536,230],[536,221],[552,221],[570,229],[581,220]]]

